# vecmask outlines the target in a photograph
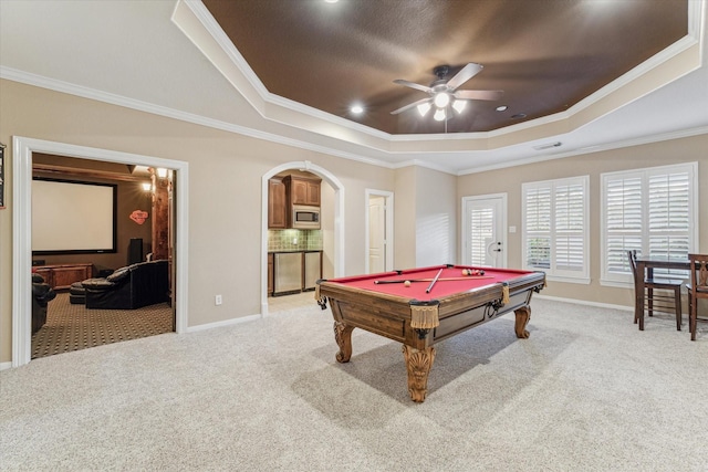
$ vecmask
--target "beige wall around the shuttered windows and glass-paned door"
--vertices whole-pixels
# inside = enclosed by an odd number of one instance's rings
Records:
[[[563,177],[590,176],[590,285],[552,282],[543,295],[577,298],[613,305],[634,305],[629,289],[616,289],[600,284],[600,175],[603,172],[698,161],[699,172],[699,250],[708,251],[708,135],[674,139],[662,143],[625,147],[621,149],[548,160],[544,162],[471,174],[458,178],[458,214],[462,197],[488,193],[508,193],[508,224],[519,231],[508,234],[508,265],[521,266],[521,185]]]

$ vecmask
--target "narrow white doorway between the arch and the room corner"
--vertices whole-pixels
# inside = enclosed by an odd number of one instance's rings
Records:
[[[366,264],[367,274],[387,272],[394,265],[394,195],[366,189]]]

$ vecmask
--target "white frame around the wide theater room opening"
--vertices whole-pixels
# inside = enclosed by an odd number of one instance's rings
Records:
[[[64,143],[12,137],[12,367],[32,357],[32,154],[76,159],[164,167],[177,172],[175,190],[175,331],[187,331],[187,268],[189,228],[189,165],[183,160],[121,153]]]

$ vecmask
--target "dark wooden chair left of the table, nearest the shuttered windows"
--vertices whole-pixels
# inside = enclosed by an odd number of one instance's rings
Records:
[[[665,312],[670,313],[668,310],[674,311],[676,313],[676,331],[681,331],[681,285],[683,281],[674,280],[674,279],[658,279],[653,275],[647,277],[646,274],[637,273],[637,252],[636,251],[627,251],[627,258],[629,259],[629,266],[632,268],[632,274],[634,275],[634,287],[635,291],[638,290],[639,277],[644,279],[644,306],[642,310],[648,312],[649,316],[654,316],[654,312]],[[670,291],[674,292],[673,295],[666,295],[663,292],[654,292],[655,290],[659,291]],[[638,301],[638,294],[635,296],[635,303]],[[658,310],[657,310],[658,308]],[[634,323],[636,324],[637,319],[637,311],[634,312]]]

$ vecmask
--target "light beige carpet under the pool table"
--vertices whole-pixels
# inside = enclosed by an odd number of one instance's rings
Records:
[[[0,469],[705,471],[708,336],[537,298],[437,345],[424,403],[400,344],[330,311],[164,334],[0,373]]]

